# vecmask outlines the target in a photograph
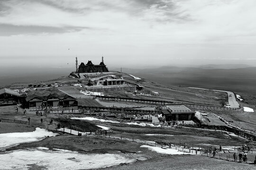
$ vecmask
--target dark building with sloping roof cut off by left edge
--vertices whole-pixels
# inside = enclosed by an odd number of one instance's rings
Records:
[[[16,105],[20,102],[20,94],[8,88],[0,89],[0,106]]]

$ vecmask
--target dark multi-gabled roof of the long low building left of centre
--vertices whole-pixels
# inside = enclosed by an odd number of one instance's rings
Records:
[[[67,97],[72,97],[56,88],[49,88],[47,90],[33,90],[27,93],[26,101],[30,101],[33,98],[39,98],[41,100],[48,100],[51,98],[63,100]],[[73,97],[72,97],[73,98]]]

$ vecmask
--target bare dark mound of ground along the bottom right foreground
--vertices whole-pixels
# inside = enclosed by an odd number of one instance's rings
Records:
[[[170,155],[105,170],[256,170],[255,166],[194,155]]]

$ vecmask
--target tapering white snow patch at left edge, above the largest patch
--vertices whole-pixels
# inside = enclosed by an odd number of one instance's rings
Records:
[[[21,143],[35,142],[46,138],[47,136],[56,136],[58,134],[49,132],[46,129],[37,127],[33,132],[5,133],[0,134],[0,150]]]

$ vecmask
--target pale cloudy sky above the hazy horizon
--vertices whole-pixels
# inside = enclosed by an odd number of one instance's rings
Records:
[[[0,0],[0,67],[256,66],[256,0]]]

